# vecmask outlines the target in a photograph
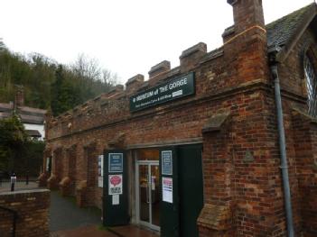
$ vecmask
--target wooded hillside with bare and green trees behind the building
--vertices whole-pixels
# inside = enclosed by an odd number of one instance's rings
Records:
[[[41,54],[21,55],[0,41],[0,103],[14,101],[15,85],[23,86],[25,105],[61,114],[89,98],[109,91],[117,75],[84,55],[61,65]]]

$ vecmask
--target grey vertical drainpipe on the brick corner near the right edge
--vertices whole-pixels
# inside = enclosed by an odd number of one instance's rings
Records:
[[[281,88],[280,88],[280,80],[278,77],[276,62],[274,65],[270,66],[270,69],[275,81],[275,104],[276,104],[276,112],[277,112],[278,139],[279,139],[280,154],[281,154],[280,168],[282,170],[282,179],[283,179],[283,187],[284,187],[284,205],[285,205],[285,211],[286,211],[287,233],[288,233],[288,237],[294,237],[292,200],[291,200],[290,181],[288,178]]]

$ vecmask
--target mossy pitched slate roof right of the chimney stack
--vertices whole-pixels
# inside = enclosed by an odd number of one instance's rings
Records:
[[[312,7],[315,7],[315,4],[306,5],[292,14],[285,15],[273,23],[268,23],[266,25],[267,47],[283,46],[289,41],[298,27],[305,21],[304,16]]]

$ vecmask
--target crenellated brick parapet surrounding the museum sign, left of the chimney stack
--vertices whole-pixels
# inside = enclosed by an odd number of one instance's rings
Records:
[[[226,30],[223,35],[225,44],[226,41],[230,41],[234,37],[234,33],[234,27]],[[232,52],[234,54],[231,55]],[[109,92],[90,99],[58,117],[50,117],[48,139],[71,135],[74,132],[83,132],[107,124],[120,123],[120,121],[134,118],[137,114],[151,113],[154,108],[136,114],[131,112],[129,98],[190,72],[193,72],[196,78],[195,96],[183,99],[182,103],[238,89],[242,84],[233,77],[239,73],[235,71],[237,68],[235,60],[238,57],[240,57],[238,49],[232,43],[208,52],[207,45],[199,42],[182,51],[179,66],[171,68],[170,61],[163,60],[150,68],[148,80],[145,80],[144,75],[137,74],[126,81],[126,87],[117,85]],[[228,70],[228,68],[232,69]],[[260,79],[260,77],[256,77],[256,79]],[[248,82],[242,86],[248,87],[252,83]],[[163,106],[157,107],[156,110],[162,109]]]

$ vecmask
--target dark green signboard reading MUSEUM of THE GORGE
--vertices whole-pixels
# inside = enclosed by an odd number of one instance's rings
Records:
[[[154,105],[163,104],[195,93],[194,74],[172,79],[130,97],[130,111],[137,111]]]

